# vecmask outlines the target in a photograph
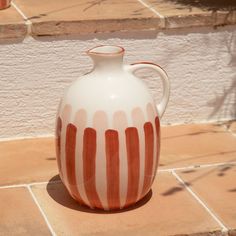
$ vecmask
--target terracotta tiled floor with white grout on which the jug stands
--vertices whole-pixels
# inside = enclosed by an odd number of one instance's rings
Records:
[[[134,207],[78,205],[52,139],[0,143],[0,235],[236,235],[236,122],[162,128],[159,173]]]

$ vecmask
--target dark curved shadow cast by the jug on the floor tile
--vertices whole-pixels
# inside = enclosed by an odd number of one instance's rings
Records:
[[[131,211],[131,210],[142,207],[152,197],[152,190],[150,190],[148,194],[144,198],[142,198],[140,201],[138,201],[136,204],[122,210],[104,211],[100,209],[90,209],[87,206],[80,205],[69,195],[66,187],[61,182],[59,175],[56,175],[49,180],[47,184],[47,192],[54,201],[56,201],[60,205],[63,205],[64,207],[67,207],[76,211],[94,213],[94,214],[116,214],[116,213]]]

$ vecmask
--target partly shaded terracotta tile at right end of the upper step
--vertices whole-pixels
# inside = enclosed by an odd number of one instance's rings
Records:
[[[165,1],[147,0],[147,2],[166,19],[167,28],[235,24],[235,4],[223,5],[213,1]],[[216,9],[218,9],[216,13]]]

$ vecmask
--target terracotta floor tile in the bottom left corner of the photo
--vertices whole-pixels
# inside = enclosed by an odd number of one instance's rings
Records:
[[[26,188],[0,189],[0,235],[50,235]]]

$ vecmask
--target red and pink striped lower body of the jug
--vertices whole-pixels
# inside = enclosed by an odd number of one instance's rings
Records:
[[[160,153],[160,122],[154,105],[147,104],[144,111],[134,108],[133,126],[127,125],[124,111],[117,111],[112,127],[104,111],[96,112],[103,117],[100,126],[95,122],[89,127],[86,111],[76,111],[76,119],[69,118],[74,113],[68,106],[57,118],[56,153],[70,195],[80,204],[104,210],[122,209],[143,198],[151,189]]]

